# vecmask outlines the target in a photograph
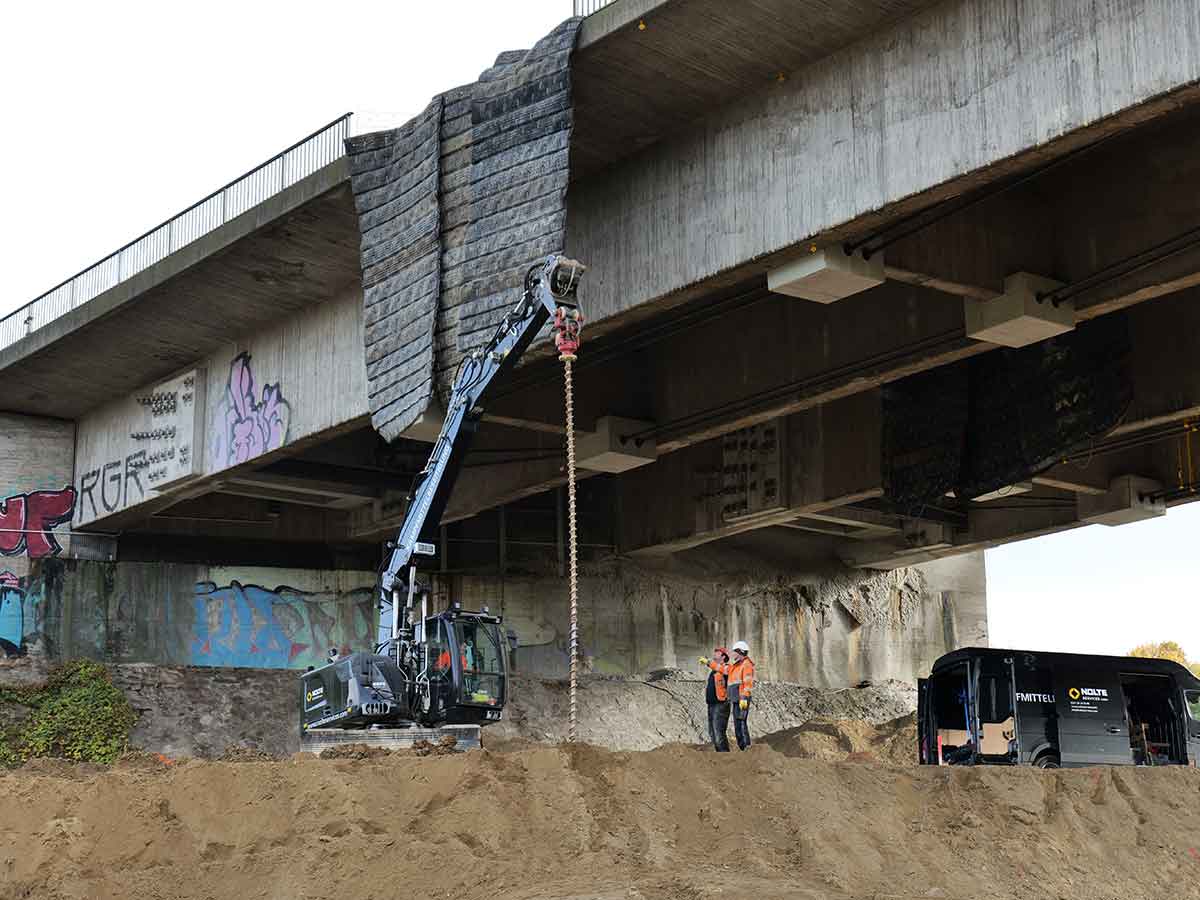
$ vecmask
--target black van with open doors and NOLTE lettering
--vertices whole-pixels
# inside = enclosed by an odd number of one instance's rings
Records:
[[[925,766],[1195,766],[1200,679],[1177,662],[970,647],[918,682]]]

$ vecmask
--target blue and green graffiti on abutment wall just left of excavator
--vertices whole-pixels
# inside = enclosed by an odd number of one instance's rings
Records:
[[[310,593],[236,581],[196,584],[190,662],[194,666],[302,668],[374,644],[374,589]]]

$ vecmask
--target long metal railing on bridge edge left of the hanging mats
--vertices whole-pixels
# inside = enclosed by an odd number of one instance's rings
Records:
[[[5,316],[0,319],[0,349],[66,316],[98,294],[343,157],[350,115],[346,113],[338,116],[241,178],[172,216],[157,228],[134,238],[98,263]]]

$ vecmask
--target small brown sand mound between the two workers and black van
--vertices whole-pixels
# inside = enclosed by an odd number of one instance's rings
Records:
[[[858,719],[814,719],[762,738],[784,756],[836,762],[917,764],[917,714],[872,725]]]

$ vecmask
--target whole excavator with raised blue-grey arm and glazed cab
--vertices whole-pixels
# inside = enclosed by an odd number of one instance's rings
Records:
[[[562,256],[532,266],[521,300],[460,364],[442,431],[379,571],[379,630],[386,637],[374,653],[353,653],[301,676],[301,746],[347,743],[352,732],[364,730],[437,733],[473,726],[478,734],[478,726],[500,720],[509,650],[502,617],[486,606],[469,612],[460,601],[431,612],[430,583],[421,580],[418,560],[437,556],[442,514],[492,385],[516,366],[547,322],[559,355],[574,359],[583,324],[576,300],[583,271],[581,263]]]

